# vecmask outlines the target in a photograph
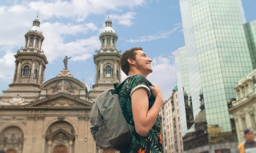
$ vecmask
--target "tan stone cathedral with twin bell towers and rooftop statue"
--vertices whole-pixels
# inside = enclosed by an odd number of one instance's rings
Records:
[[[15,54],[13,82],[0,96],[0,150],[5,153],[100,153],[90,133],[94,99],[114,82],[121,82],[117,35],[106,20],[100,35],[101,49],[93,56],[95,83],[85,82],[65,68],[44,81],[48,64],[43,52],[40,21],[25,34],[25,48]]]

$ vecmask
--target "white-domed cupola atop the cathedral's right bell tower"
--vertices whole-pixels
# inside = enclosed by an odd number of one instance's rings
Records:
[[[112,28],[112,21],[109,19],[105,22],[106,26],[101,31],[100,40],[102,49],[116,49],[116,41],[118,39],[116,31]]]

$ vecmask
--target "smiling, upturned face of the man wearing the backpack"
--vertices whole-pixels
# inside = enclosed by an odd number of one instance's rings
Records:
[[[136,50],[135,52],[137,53],[135,60],[135,66],[137,67],[137,69],[139,69],[143,73],[146,73],[147,75],[149,73],[152,73],[153,70],[150,65],[152,59],[147,57],[147,55],[142,50]]]

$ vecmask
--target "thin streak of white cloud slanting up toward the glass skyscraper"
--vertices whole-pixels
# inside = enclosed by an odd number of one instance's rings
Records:
[[[152,40],[157,40],[160,38],[168,38],[172,33],[176,31],[180,31],[182,25],[180,23],[174,24],[174,28],[170,31],[158,31],[156,35],[147,35],[147,36],[140,36],[138,39],[129,39],[126,40],[130,43],[137,43],[137,42],[150,42]]]

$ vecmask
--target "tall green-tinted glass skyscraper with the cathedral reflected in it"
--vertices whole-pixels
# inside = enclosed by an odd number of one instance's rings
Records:
[[[241,0],[180,0],[180,12],[185,46],[175,66],[184,150],[233,152],[227,102],[253,70]]]

